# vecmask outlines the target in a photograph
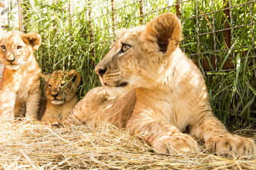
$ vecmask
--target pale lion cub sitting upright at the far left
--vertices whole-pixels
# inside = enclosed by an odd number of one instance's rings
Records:
[[[14,30],[1,37],[0,60],[5,67],[0,81],[0,120],[25,115],[38,119],[41,68],[33,52],[40,45],[38,33]]]

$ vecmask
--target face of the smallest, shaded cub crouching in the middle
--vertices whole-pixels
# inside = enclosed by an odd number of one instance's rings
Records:
[[[58,70],[52,74],[43,74],[43,79],[46,81],[46,97],[50,103],[60,105],[75,96],[81,78],[75,70],[70,70],[70,72]]]

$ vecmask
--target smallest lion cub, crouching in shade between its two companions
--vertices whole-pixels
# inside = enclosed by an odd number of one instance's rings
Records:
[[[43,74],[43,79],[46,81],[47,101],[41,121],[51,125],[59,124],[78,102],[78,96],[75,93],[80,84],[80,74],[75,70],[70,72],[58,70],[52,74]]]

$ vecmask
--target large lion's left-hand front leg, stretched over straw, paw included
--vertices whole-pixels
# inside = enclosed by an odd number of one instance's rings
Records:
[[[139,135],[148,142],[156,152],[163,154],[182,154],[198,151],[196,140],[180,132],[170,123],[154,120],[150,113],[132,113],[127,123],[127,130],[132,135]]]

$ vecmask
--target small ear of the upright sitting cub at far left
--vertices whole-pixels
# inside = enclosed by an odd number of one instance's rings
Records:
[[[41,45],[41,35],[38,33],[28,33],[23,36],[23,40],[28,45],[31,45],[33,50],[37,50],[38,47]]]

